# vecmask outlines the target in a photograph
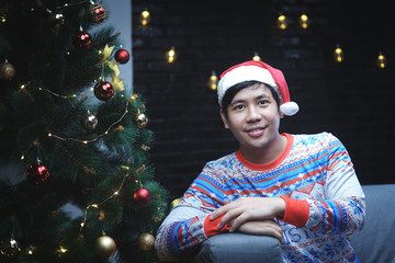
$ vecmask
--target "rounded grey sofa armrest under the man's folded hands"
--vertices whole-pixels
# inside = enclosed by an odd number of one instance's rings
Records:
[[[269,236],[219,233],[203,242],[194,261],[196,263],[280,263],[282,262],[281,244],[278,239]]]

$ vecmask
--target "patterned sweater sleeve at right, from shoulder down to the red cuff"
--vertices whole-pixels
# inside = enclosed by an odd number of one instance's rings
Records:
[[[330,134],[329,152],[325,199],[306,199],[305,227],[324,235],[351,236],[364,224],[364,194],[345,146]]]

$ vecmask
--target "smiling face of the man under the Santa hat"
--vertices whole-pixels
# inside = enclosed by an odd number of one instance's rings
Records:
[[[221,116],[225,128],[232,130],[244,153],[269,150],[279,138],[282,117],[271,91],[264,84],[252,84],[242,89]]]

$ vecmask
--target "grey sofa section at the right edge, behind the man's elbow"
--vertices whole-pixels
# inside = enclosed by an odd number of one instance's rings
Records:
[[[363,185],[366,218],[351,238],[360,262],[395,263],[395,184]]]

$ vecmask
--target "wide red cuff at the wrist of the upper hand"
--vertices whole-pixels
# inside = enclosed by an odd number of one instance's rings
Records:
[[[295,227],[303,227],[309,215],[307,201],[281,197],[285,201],[285,213],[280,221],[294,225]]]

